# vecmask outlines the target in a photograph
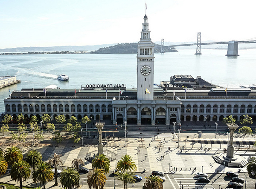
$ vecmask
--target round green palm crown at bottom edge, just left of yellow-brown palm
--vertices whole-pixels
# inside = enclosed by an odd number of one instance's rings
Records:
[[[64,188],[72,189],[73,187],[79,185],[79,172],[76,169],[67,167],[63,172],[61,172],[60,181]]]

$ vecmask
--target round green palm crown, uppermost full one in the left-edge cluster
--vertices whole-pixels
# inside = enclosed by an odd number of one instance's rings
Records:
[[[22,160],[23,155],[18,147],[12,146],[11,148],[8,148],[6,150],[3,157],[9,165],[12,165],[13,163],[18,162],[19,160]]]

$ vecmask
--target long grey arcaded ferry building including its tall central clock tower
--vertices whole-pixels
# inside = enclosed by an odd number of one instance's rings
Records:
[[[165,124],[180,121],[221,121],[248,114],[256,120],[256,90],[223,89],[198,76],[174,75],[154,88],[154,44],[145,15],[137,51],[137,89],[125,84],[87,84],[81,89],[22,89],[4,100],[6,114],[14,118],[43,114],[52,117],[88,116],[92,121],[113,124]]]

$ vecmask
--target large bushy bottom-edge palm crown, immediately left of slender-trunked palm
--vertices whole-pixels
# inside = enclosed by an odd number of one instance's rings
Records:
[[[33,182],[40,182],[40,184],[43,184],[45,189],[45,184],[51,181],[54,176],[53,172],[51,171],[51,167],[49,163],[41,161],[35,166],[35,168],[36,169],[34,169],[32,173]]]

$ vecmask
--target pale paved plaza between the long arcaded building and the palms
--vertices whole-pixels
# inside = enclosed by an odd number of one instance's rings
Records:
[[[143,129],[143,127],[142,127]],[[168,129],[166,129],[168,130]],[[197,138],[198,135],[196,133],[180,133],[180,142],[179,146],[184,146],[183,150],[181,152],[182,148],[177,147],[177,135],[175,133],[175,136],[173,137],[171,132],[168,131],[162,131],[156,137],[154,140],[154,137],[143,137],[142,140],[140,138],[140,132],[143,130],[137,131],[134,134],[134,137],[127,138],[127,145],[124,146],[125,141],[124,138],[121,140],[114,141],[113,139],[107,140],[108,145],[105,146],[105,151],[111,151],[116,154],[116,159],[111,161],[111,171],[116,168],[116,164],[118,160],[121,159],[122,155],[128,154],[131,155],[137,165],[137,173],[138,175],[145,175],[148,176],[151,174],[152,171],[162,171],[164,173],[171,173],[171,175],[192,175],[194,167],[196,167],[196,170],[201,172],[203,169],[203,172],[207,174],[216,173],[217,169],[219,172],[227,172],[227,171],[233,171],[237,172],[237,168],[228,168],[226,167],[225,170],[224,166],[215,163],[215,161],[212,158],[212,155],[216,153],[222,153],[222,149],[224,147],[227,147],[227,145],[222,145],[221,149],[218,144],[213,144],[212,148],[210,148],[210,145],[203,145],[201,148],[201,144],[195,143],[193,144],[191,142],[184,142],[183,140],[186,139],[186,136],[189,136],[189,138]],[[137,133],[137,134],[136,134]],[[144,136],[147,131],[143,131]],[[241,137],[239,134],[235,134],[236,137]],[[203,138],[214,138],[215,133],[204,133],[203,132]],[[245,138],[256,138],[255,136],[246,136]],[[219,134],[217,135],[217,138],[227,138],[226,134]],[[12,146],[11,143],[6,142],[5,138],[0,138],[1,148],[3,151],[5,151],[8,147]],[[30,137],[29,142],[32,143],[32,138]],[[87,143],[94,143],[97,144],[97,137],[94,139],[86,139],[84,140],[84,144]],[[141,142],[143,141],[143,143]],[[160,145],[161,143],[161,147]],[[149,146],[150,143],[150,146]],[[116,144],[116,146],[115,146]],[[142,146],[143,144],[143,146]],[[61,160],[64,164],[64,167],[71,166],[72,160],[75,158],[81,158],[84,160],[84,163],[86,164],[86,167],[89,169],[92,169],[91,163],[87,162],[85,160],[85,155],[87,153],[97,153],[97,145],[85,145],[81,146],[80,143],[76,144],[75,147],[72,147],[74,143],[70,140],[64,140],[59,144],[58,147],[55,146],[55,143],[52,142],[52,140],[48,137],[48,134],[44,134],[44,141],[42,142],[42,146],[24,146],[23,144],[15,144],[16,146],[20,147],[20,149],[23,152],[23,155],[25,155],[29,150],[31,149],[37,149],[39,152],[43,155],[43,160],[48,160],[52,154],[57,153],[63,155],[61,157]],[[171,148],[171,150],[168,151],[168,147]],[[159,151],[159,149],[161,150]],[[140,152],[138,152],[140,150]],[[255,156],[255,152],[252,151],[235,151],[236,155],[242,155],[244,158],[248,158],[249,156]],[[145,156],[147,156],[145,158]],[[162,159],[161,156],[164,156]],[[170,172],[169,172],[169,163],[170,163]],[[203,167],[202,167],[203,166]],[[177,171],[173,171],[173,168],[177,168]],[[145,170],[144,170],[145,169]],[[144,172],[145,171],[145,172]],[[246,172],[246,169],[243,168],[243,171]],[[143,177],[145,177],[143,176]],[[84,177],[84,176],[83,176]],[[169,179],[169,177],[167,178]],[[171,182],[170,188],[179,188],[179,183],[175,181],[175,179],[169,179]],[[19,186],[19,183],[12,181],[9,174],[4,175],[2,178],[0,178],[1,182],[5,183],[14,183]],[[40,184],[32,183],[32,179],[23,182],[24,186],[40,186]],[[62,188],[61,184],[59,183],[59,186],[53,186],[54,181],[48,182],[46,184],[46,188],[51,189],[57,189]],[[81,188],[82,189],[88,189],[88,186],[85,182],[85,180],[81,180]],[[106,189],[112,189],[113,187],[105,187]],[[116,189],[121,189],[123,186],[116,186]]]

